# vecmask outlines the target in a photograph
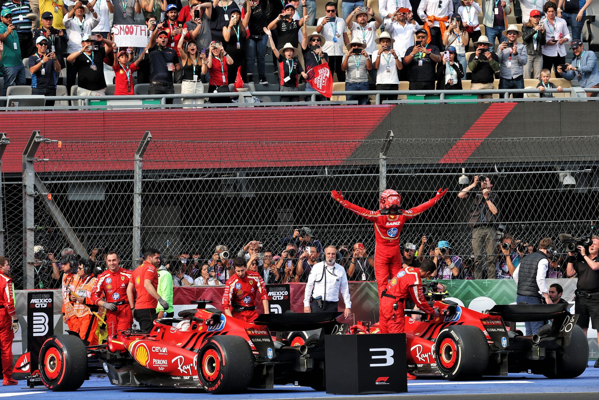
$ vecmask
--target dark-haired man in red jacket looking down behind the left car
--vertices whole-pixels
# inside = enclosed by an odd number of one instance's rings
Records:
[[[256,300],[262,299],[264,313],[268,314],[268,299],[264,280],[258,272],[246,270],[246,259],[237,257],[233,260],[235,275],[225,283],[223,294],[223,312],[245,322],[253,323],[258,318]]]

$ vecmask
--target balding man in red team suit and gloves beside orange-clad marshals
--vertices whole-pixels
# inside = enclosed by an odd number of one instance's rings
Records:
[[[108,335],[131,329],[133,313],[127,301],[127,286],[131,280],[131,271],[120,268],[116,251],[106,255],[108,269],[96,278],[92,290],[92,302],[106,309]]]

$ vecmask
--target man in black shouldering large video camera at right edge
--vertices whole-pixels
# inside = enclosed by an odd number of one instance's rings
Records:
[[[569,238],[565,238],[567,236]],[[559,235],[559,240],[565,242],[564,239],[573,239],[570,235]],[[586,247],[580,243],[580,238],[577,240],[568,240],[576,245],[568,247],[568,265],[566,266],[566,274],[568,277],[573,277],[576,274],[578,280],[576,282],[576,314],[579,318],[576,325],[580,326],[585,332],[589,328],[589,320],[592,322],[592,328],[599,331],[599,237],[593,236],[590,238],[591,243]],[[574,243],[573,243],[574,242]],[[597,334],[597,344],[599,344],[599,332]],[[599,360],[595,361],[595,368],[599,368]]]

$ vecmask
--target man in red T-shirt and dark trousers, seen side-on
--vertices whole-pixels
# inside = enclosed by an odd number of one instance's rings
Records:
[[[156,249],[144,251],[144,262],[135,268],[127,285],[127,299],[133,316],[140,323],[142,331],[150,332],[156,319],[156,304],[168,310],[168,302],[156,292],[158,287],[158,267],[160,252]],[[134,291],[137,298],[134,298]]]

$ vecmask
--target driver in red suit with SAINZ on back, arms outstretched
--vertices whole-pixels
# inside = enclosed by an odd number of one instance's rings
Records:
[[[429,201],[409,210],[401,210],[401,196],[395,190],[387,189],[380,195],[380,210],[370,211],[350,203],[337,190],[332,190],[331,195],[335,201],[374,223],[374,277],[379,287],[379,297],[387,287],[389,277],[394,277],[400,271],[400,232],[404,223],[431,208],[446,192],[447,189],[439,189],[437,195]]]

